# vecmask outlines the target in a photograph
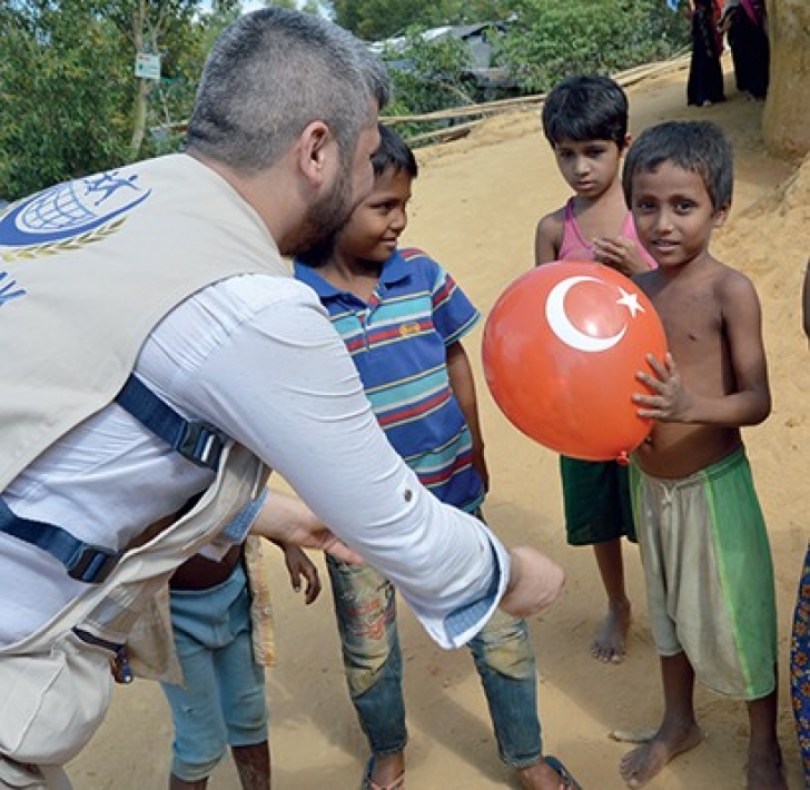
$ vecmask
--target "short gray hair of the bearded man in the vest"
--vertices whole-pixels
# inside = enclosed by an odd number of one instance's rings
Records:
[[[188,146],[243,172],[274,165],[312,121],[349,156],[388,102],[383,65],[358,39],[315,14],[266,8],[228,27],[211,49]]]

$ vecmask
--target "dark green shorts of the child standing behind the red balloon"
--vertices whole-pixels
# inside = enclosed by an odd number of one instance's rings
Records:
[[[561,455],[560,473],[569,545],[590,546],[623,536],[635,542],[626,466]]]

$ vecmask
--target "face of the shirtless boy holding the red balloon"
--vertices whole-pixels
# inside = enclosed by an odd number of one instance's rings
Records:
[[[633,176],[633,219],[639,238],[660,266],[688,264],[707,253],[729,207],[715,209],[703,179],[664,161]]]

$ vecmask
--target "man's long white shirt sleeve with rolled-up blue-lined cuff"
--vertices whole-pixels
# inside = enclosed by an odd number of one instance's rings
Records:
[[[508,554],[442,504],[394,452],[314,294],[285,285],[195,372],[184,401],[251,448],[399,590],[431,636],[471,639],[508,582]]]

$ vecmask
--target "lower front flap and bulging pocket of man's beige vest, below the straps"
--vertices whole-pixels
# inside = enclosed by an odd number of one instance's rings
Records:
[[[231,445],[224,456],[216,484],[188,515],[128,552],[103,584],[88,585],[42,629],[0,650],[0,787],[49,787],[43,767],[73,759],[103,721],[111,654],[70,629],[126,641],[178,557],[195,554],[211,525],[227,523],[264,485],[263,467],[244,447]]]

